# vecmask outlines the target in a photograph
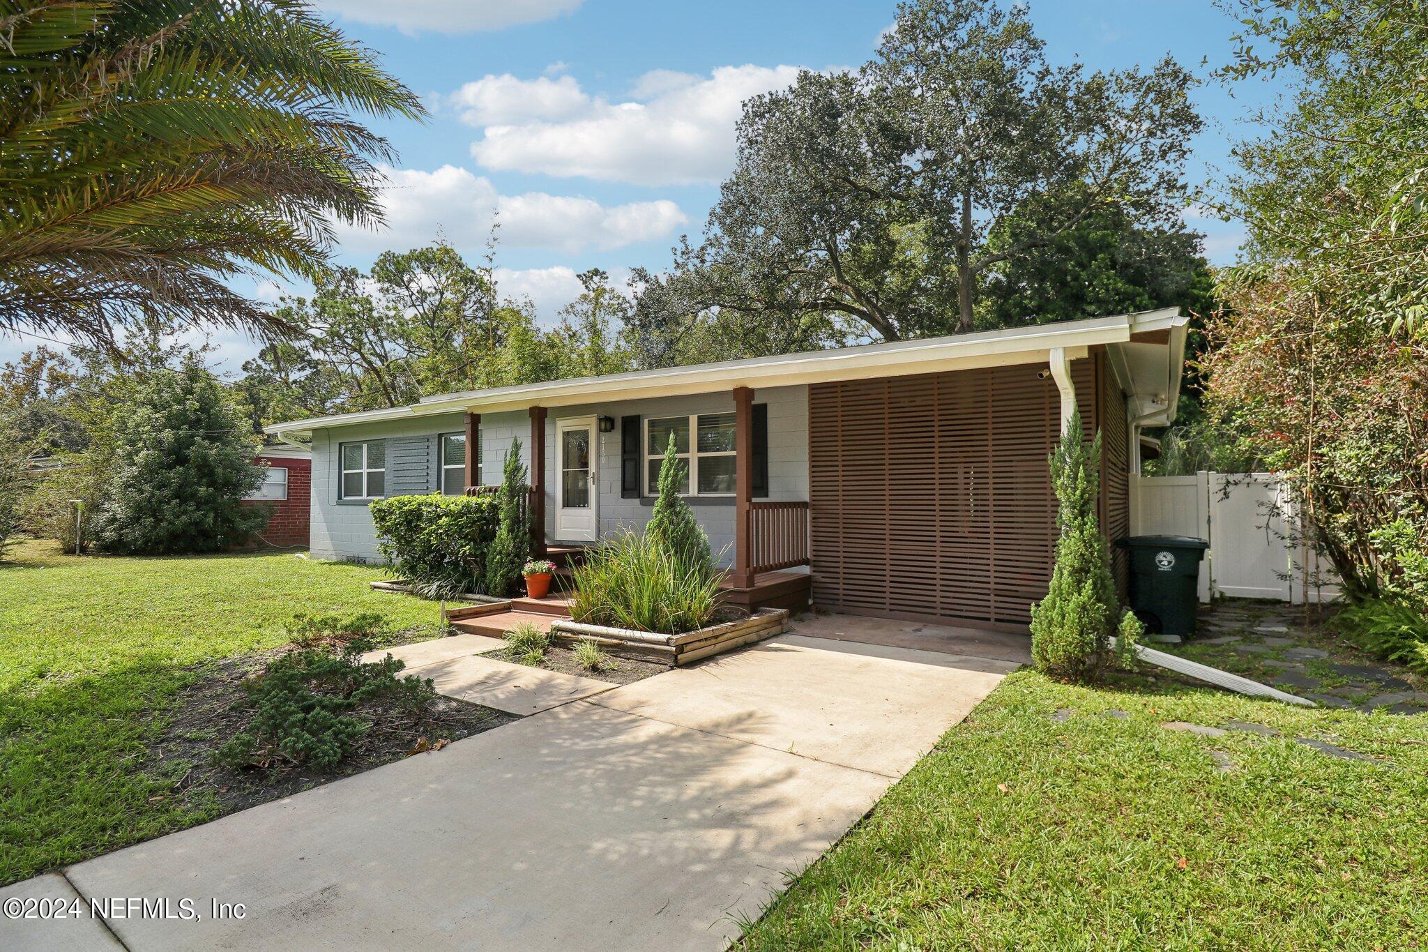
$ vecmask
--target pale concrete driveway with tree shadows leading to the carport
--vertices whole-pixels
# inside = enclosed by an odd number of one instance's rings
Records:
[[[191,899],[198,921],[0,931],[11,948],[720,948],[1014,667],[785,635],[0,891]]]

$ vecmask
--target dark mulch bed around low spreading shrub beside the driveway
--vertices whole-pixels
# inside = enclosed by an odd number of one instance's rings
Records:
[[[281,799],[374,766],[400,761],[414,751],[431,749],[440,756],[444,742],[490,731],[518,721],[514,714],[483,708],[454,698],[437,697],[423,724],[384,709],[386,702],[364,705],[361,716],[373,726],[351,754],[334,768],[270,766],[234,769],[213,762],[213,752],[240,732],[251,718],[243,707],[243,679],[258,672],[284,649],[264,651],[201,665],[198,677],[180,695],[174,716],[149,748],[144,769],[176,775],[173,796],[217,804],[224,815],[268,801]]]

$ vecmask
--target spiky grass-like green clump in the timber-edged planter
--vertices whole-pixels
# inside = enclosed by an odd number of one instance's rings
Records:
[[[650,534],[624,530],[574,569],[570,611],[593,625],[694,631],[718,611],[723,578],[707,559],[673,555]]]

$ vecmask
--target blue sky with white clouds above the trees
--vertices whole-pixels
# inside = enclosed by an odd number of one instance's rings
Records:
[[[697,236],[730,170],[738,103],[787,84],[800,67],[855,67],[892,21],[888,0],[317,0],[421,94],[426,124],[383,121],[400,153],[384,193],[390,228],[346,231],[338,258],[366,267],[384,248],[443,234],[470,260],[501,220],[497,280],[551,320],[574,274],[670,261]],[[1225,61],[1235,21],[1210,0],[1032,0],[1052,61],[1150,66],[1171,53],[1201,76]],[[1202,61],[1208,59],[1208,64]],[[1262,90],[1254,90],[1262,93]],[[1208,120],[1191,180],[1228,164],[1245,103],[1210,83]],[[1234,260],[1240,230],[1195,218],[1215,263]],[[247,290],[247,288],[243,288]],[[258,281],[276,298],[286,288]],[[300,290],[300,288],[298,288]],[[218,337],[237,368],[254,347]],[[0,337],[0,360],[33,341]]]

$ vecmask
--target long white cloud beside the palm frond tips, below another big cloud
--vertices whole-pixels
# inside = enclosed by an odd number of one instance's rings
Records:
[[[680,207],[664,198],[607,207],[544,191],[503,196],[484,176],[456,166],[383,171],[388,180],[381,191],[387,228],[344,228],[340,243],[346,251],[420,247],[438,236],[457,247],[480,245],[496,220],[503,247],[608,251],[664,238],[688,223]]]

